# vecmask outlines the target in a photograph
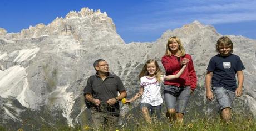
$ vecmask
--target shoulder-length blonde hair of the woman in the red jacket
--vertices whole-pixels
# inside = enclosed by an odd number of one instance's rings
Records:
[[[169,48],[169,44],[173,43],[174,40],[176,40],[177,43],[179,44],[178,55],[180,57],[184,56],[186,54],[185,49],[183,47],[183,44],[181,44],[181,40],[177,36],[173,36],[168,39],[166,44],[166,49],[165,49],[165,55],[171,56],[171,50]]]

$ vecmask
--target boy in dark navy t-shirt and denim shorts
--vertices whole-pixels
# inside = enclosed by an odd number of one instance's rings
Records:
[[[214,92],[219,104],[219,111],[221,111],[221,118],[224,122],[230,122],[234,97],[242,95],[244,81],[242,70],[245,68],[240,57],[232,54],[233,43],[227,36],[219,38],[216,43],[216,51],[219,54],[210,59],[207,67],[205,77],[206,98],[212,101]],[[238,86],[235,74],[237,74]]]

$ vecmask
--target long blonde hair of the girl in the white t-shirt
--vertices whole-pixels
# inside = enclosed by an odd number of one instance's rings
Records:
[[[155,77],[156,77],[156,80],[158,82],[160,82],[161,81],[161,73],[162,73],[162,71],[161,71],[157,61],[154,60],[154,59],[147,60],[147,62],[144,64],[142,70],[140,71],[139,79],[141,77],[143,77],[143,76],[149,75],[149,73],[147,72],[147,64],[150,64],[150,63],[154,63],[155,64],[155,66],[156,66],[156,72],[155,72],[156,76]]]

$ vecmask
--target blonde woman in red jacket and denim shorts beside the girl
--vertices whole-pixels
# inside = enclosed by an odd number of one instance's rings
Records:
[[[192,58],[185,53],[183,45],[178,37],[168,39],[162,64],[166,75],[175,75],[181,67],[186,65],[183,74],[174,80],[164,82],[164,99],[167,107],[166,117],[170,122],[178,120],[182,122],[190,94],[196,88],[196,74]]]

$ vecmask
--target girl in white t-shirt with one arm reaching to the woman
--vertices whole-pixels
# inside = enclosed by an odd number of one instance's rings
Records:
[[[176,75],[165,76],[161,75],[161,70],[156,60],[148,60],[139,75],[141,81],[139,92],[131,99],[126,99],[125,103],[134,102],[137,98],[142,96],[140,107],[145,120],[151,123],[150,116],[160,118],[161,103],[163,103],[160,93],[161,84],[164,80],[179,78],[185,67],[186,65],[184,65]]]

